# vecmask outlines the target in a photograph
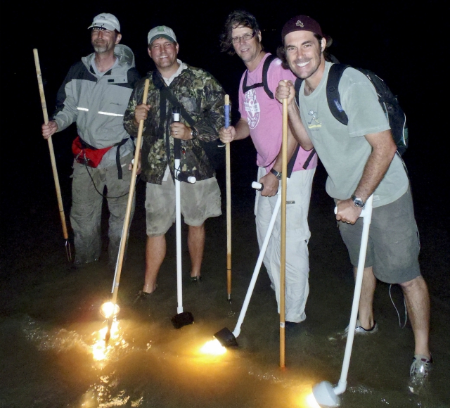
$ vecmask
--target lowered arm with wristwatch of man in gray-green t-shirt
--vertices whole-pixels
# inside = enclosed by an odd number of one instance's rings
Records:
[[[354,195],[361,198],[364,203],[366,203],[366,200],[378,187],[383,177],[385,177],[397,151],[397,146],[392,139],[390,130],[366,134],[365,137],[372,146],[372,153],[368,156],[364,172],[354,191]],[[336,214],[338,221],[354,224],[359,215],[361,215],[361,208],[354,205],[352,198],[338,200],[338,212]]]

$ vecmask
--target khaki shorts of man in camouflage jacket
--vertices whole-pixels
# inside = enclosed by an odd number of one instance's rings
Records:
[[[221,215],[219,184],[215,177],[180,184],[181,214],[184,222],[200,227],[207,218]],[[147,183],[147,236],[161,236],[175,222],[175,184],[171,177],[162,184]]]

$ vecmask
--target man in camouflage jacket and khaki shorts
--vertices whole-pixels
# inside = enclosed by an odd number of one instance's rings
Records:
[[[205,219],[221,215],[220,190],[203,142],[219,139],[224,126],[224,90],[210,73],[177,59],[174,31],[161,25],[148,33],[148,55],[156,70],[149,72],[148,104],[142,103],[142,79],[135,87],[124,117],[131,135],[144,120],[142,178],[147,181],[146,277],[139,299],[155,291],[165,258],[165,233],[175,220],[174,139],[181,139],[181,171],[197,179],[181,183],[181,213],[189,226],[191,281],[200,280],[205,246]],[[181,121],[172,123],[172,107],[181,106]]]

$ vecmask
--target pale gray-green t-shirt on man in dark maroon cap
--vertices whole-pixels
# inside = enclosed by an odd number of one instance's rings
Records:
[[[300,88],[300,115],[309,138],[328,172],[326,191],[339,200],[350,198],[363,174],[372,148],[365,134],[390,129],[370,80],[358,70],[347,68],[339,82],[342,108],[349,118],[342,125],[333,117],[326,99],[326,82],[332,63],[326,62],[319,86],[309,96]],[[408,177],[396,154],[385,177],[373,194],[373,207],[394,202],[408,189]]]

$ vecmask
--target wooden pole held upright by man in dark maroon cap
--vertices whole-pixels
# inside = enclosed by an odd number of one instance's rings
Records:
[[[286,180],[288,177],[288,100],[283,99],[281,145],[280,366],[285,366]]]

